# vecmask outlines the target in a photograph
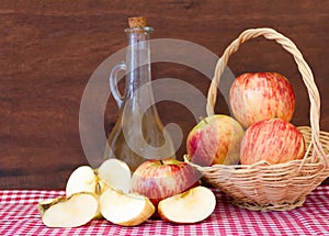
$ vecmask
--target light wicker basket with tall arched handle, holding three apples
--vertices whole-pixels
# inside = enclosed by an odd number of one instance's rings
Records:
[[[302,160],[269,165],[214,165],[200,167],[203,179],[232,198],[232,203],[254,211],[286,211],[302,206],[306,195],[329,177],[329,133],[320,132],[320,97],[310,68],[295,44],[272,29],[251,29],[242,32],[218,60],[207,97],[207,115],[214,114],[217,88],[228,58],[251,38],[264,36],[274,40],[291,53],[298,66],[310,100],[310,127],[298,127],[304,134],[307,151]]]

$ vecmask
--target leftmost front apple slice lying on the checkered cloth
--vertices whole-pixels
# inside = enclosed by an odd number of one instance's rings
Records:
[[[38,203],[43,223],[48,227],[78,227],[91,221],[98,212],[93,193],[80,192]]]

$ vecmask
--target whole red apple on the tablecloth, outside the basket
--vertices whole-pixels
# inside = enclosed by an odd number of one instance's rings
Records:
[[[133,173],[131,192],[147,196],[157,206],[161,200],[198,186],[200,178],[186,162],[173,158],[150,159]]]

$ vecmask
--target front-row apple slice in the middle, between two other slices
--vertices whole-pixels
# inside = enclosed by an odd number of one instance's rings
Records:
[[[122,226],[139,225],[156,211],[148,198],[111,188],[100,196],[100,209],[104,218]]]

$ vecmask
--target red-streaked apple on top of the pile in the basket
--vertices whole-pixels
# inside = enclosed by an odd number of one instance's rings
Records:
[[[235,119],[243,127],[273,117],[290,122],[295,110],[295,93],[290,81],[277,72],[248,72],[232,82],[229,103]]]

